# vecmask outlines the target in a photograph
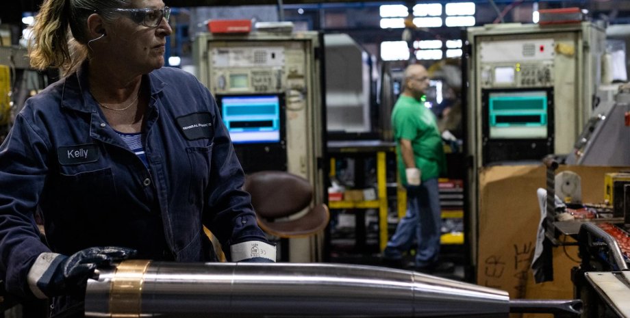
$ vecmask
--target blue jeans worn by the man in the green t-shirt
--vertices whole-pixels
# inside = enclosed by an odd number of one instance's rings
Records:
[[[388,241],[383,256],[401,259],[415,237],[418,243],[416,267],[436,263],[440,253],[441,227],[438,179],[431,178],[418,186],[407,186],[407,214],[396,226],[396,233]]]

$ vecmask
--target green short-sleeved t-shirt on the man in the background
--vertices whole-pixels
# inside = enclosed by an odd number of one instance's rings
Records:
[[[401,155],[401,138],[411,141],[416,167],[422,172],[422,180],[438,178],[445,170],[442,136],[436,116],[422,103],[401,95],[392,111],[392,128],[396,140],[396,157],[403,184],[407,184],[405,163]]]

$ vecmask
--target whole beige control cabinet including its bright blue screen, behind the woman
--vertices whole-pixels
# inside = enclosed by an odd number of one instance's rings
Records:
[[[199,33],[195,72],[214,95],[245,174],[281,170],[306,178],[314,202],[325,197],[321,35],[253,31]],[[288,260],[314,261],[320,248],[292,240]],[[283,256],[283,259],[286,256]]]

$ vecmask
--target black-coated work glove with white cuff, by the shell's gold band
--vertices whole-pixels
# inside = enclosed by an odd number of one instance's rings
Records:
[[[84,287],[97,267],[110,266],[135,254],[136,250],[116,246],[86,248],[71,256],[42,253],[29,270],[29,287],[40,298],[73,293]]]

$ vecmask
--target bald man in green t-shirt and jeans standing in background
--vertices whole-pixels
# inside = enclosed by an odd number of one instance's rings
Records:
[[[403,92],[392,111],[399,174],[407,188],[407,214],[383,252],[386,263],[402,265],[403,252],[415,237],[415,269],[420,271],[431,270],[438,261],[442,226],[438,177],[445,163],[436,116],[421,102],[428,85],[424,66],[407,66]]]

